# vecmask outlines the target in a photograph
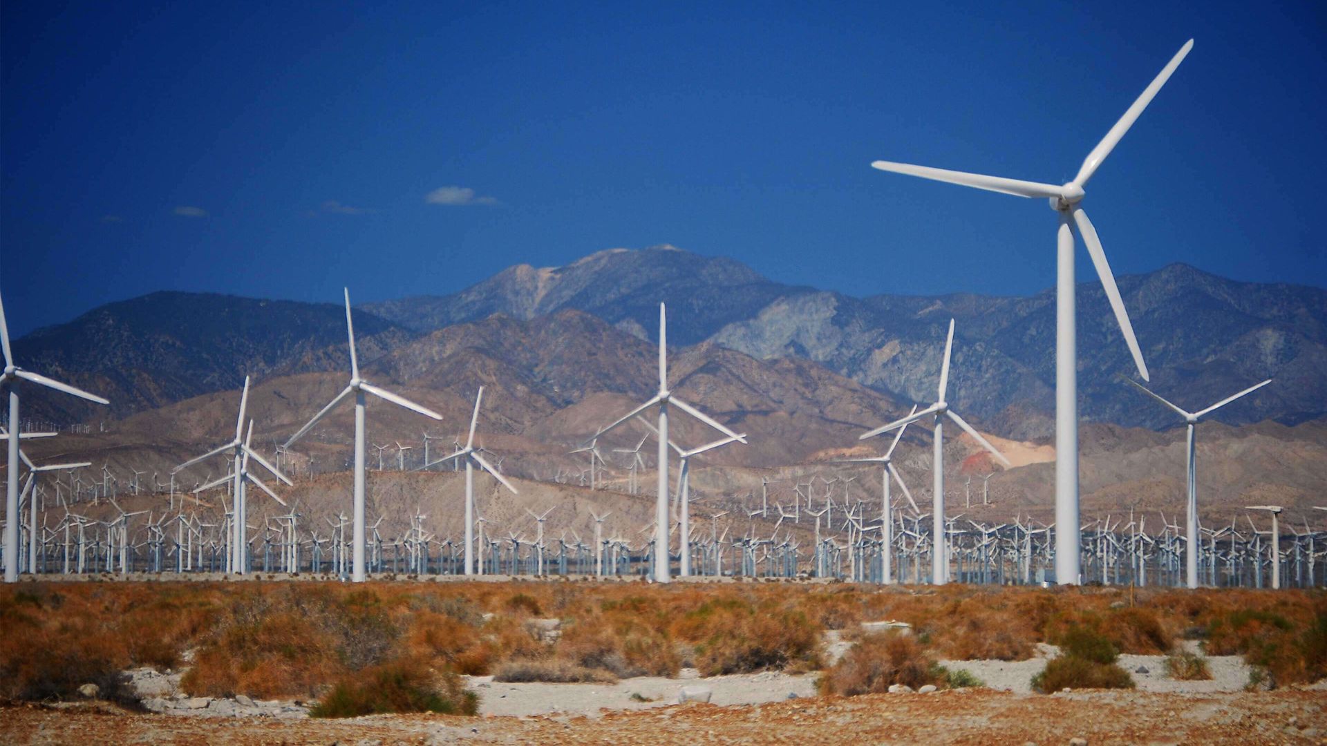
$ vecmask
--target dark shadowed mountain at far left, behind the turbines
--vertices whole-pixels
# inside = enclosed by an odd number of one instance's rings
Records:
[[[357,312],[360,354],[414,335]],[[349,369],[345,308],[212,293],[157,292],[89,311],[13,344],[19,365],[101,394],[109,408],[28,386],[24,418],[106,419],[235,389],[244,376]]]

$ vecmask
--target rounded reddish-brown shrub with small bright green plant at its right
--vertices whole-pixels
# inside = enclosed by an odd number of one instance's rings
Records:
[[[867,634],[816,682],[821,694],[871,694],[888,692],[893,684],[917,689],[947,684],[945,670],[926,656],[910,634]]]

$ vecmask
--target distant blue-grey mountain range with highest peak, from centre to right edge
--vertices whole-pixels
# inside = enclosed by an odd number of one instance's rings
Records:
[[[1327,413],[1327,291],[1237,283],[1173,264],[1119,279],[1152,385],[1202,409],[1263,378],[1277,382],[1223,408],[1230,423],[1302,422]],[[495,311],[531,319],[577,308],[652,337],[667,301],[670,340],[702,340],[759,358],[800,357],[905,401],[929,402],[945,325],[958,320],[950,401],[991,431],[1047,437],[1054,427],[1055,295],[872,296],[782,285],[730,259],[671,247],[593,254],[561,268],[512,267],[450,296],[370,308],[414,329]],[[1097,283],[1078,289],[1080,414],[1166,427],[1172,413],[1125,388],[1136,376]]]

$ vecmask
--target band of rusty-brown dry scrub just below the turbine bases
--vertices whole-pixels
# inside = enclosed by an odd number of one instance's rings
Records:
[[[1132,605],[1131,605],[1132,604]],[[487,620],[486,615],[491,615]],[[525,624],[557,617],[544,641]],[[1277,684],[1327,674],[1327,596],[1304,591],[878,588],[853,584],[36,583],[0,588],[0,698],[73,696],[118,672],[195,662],[195,694],[322,694],[401,657],[484,674],[559,661],[594,676],[819,668],[825,629],[897,619],[937,657],[1020,660],[1083,627],[1121,652],[1180,636],[1245,654]]]

